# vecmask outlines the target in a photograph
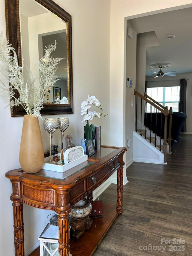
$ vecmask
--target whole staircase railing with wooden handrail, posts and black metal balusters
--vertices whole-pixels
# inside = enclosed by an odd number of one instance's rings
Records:
[[[137,132],[137,97],[141,98],[141,121],[140,121],[140,135],[142,135],[142,100],[145,101],[145,103],[149,103],[151,105],[151,109],[152,106],[156,109],[156,118],[155,118],[155,146],[156,146],[156,134],[157,134],[157,111],[160,111],[161,113],[164,114],[164,131],[162,134],[162,116],[161,116],[161,134],[160,134],[160,150],[161,150],[161,139],[163,138],[163,146],[162,146],[162,151],[164,153],[164,163],[167,162],[167,119],[168,119],[168,115],[169,116],[169,133],[168,133],[168,145],[169,145],[169,152],[171,152],[171,123],[172,123],[172,107],[170,107],[170,110],[168,110],[168,107],[164,107],[163,105],[161,105],[160,103],[158,103],[157,101],[155,101],[154,99],[152,99],[151,97],[149,97],[146,93],[144,95],[140,94],[139,92],[137,92],[136,90],[134,90],[134,95],[136,95],[136,132]],[[152,111],[151,115],[150,115],[150,124],[152,127]],[[146,108],[145,108],[145,126],[146,126],[146,119],[147,119],[147,113],[146,113]],[[150,143],[151,143],[151,127],[150,127]],[[163,136],[162,136],[163,135]],[[146,131],[145,131],[145,139],[146,139]]]

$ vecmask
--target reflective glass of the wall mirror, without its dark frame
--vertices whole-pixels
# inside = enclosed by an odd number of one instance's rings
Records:
[[[58,64],[56,72],[60,80],[54,84],[52,90],[44,93],[44,103],[68,104],[66,22],[35,0],[19,0],[19,17],[21,54],[26,65],[25,70],[29,68],[34,74],[38,69],[38,59],[44,55],[45,47],[56,41],[57,48],[53,55],[64,58]]]

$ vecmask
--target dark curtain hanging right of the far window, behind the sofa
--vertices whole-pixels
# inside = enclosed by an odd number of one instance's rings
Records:
[[[180,98],[179,98],[179,112],[186,114],[186,89],[187,89],[187,80],[185,78],[180,79]],[[186,121],[182,127],[181,132],[186,132]]]

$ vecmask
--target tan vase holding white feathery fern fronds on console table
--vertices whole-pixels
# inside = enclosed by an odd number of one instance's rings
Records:
[[[26,111],[19,150],[19,163],[26,173],[38,172],[44,163],[44,147],[38,117],[41,117],[44,93],[52,89],[59,79],[56,69],[62,58],[52,56],[56,46],[55,41],[46,47],[45,55],[39,60],[37,74],[33,75],[29,71],[29,79],[25,81],[23,64],[21,67],[18,65],[15,49],[3,38],[2,32],[0,34],[0,73],[2,79],[6,77],[9,80],[9,84],[0,80],[0,93],[7,97],[7,106],[20,105]]]

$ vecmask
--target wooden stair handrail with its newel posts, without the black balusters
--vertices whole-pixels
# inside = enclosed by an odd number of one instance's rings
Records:
[[[167,118],[168,118],[168,115],[169,115],[170,116],[170,122],[169,122],[168,145],[169,145],[169,153],[170,153],[171,152],[171,124],[172,124],[172,113],[173,113],[172,107],[170,107],[170,110],[168,110],[167,106],[164,107],[163,105],[161,105],[160,103],[155,101],[153,98],[148,96],[146,93],[144,93],[144,96],[143,96],[142,94],[137,92],[136,89],[134,89],[134,95],[139,96],[144,101],[148,102],[149,104],[151,104],[153,107],[155,107],[156,109],[161,111],[161,113],[164,114],[165,121],[164,121],[163,153],[164,153],[164,163],[166,163],[166,161],[167,161]]]

